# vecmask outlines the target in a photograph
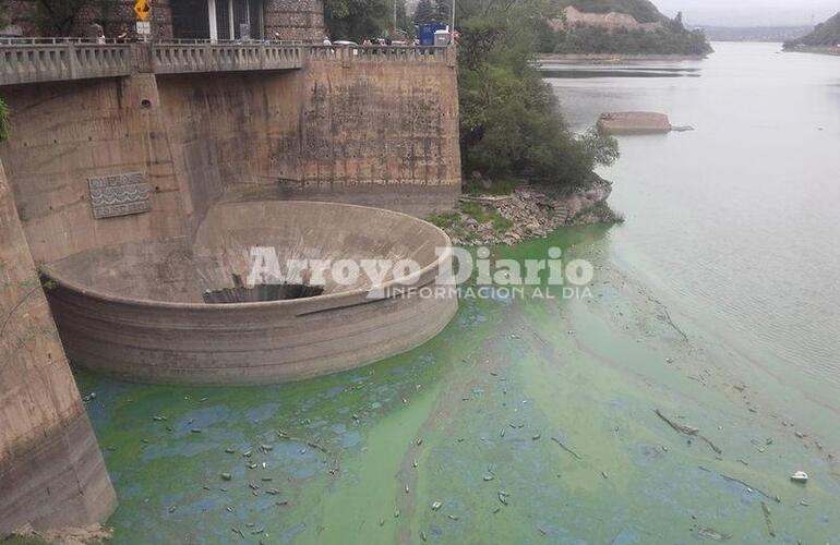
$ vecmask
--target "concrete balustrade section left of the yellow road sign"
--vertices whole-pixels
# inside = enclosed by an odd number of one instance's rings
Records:
[[[129,45],[82,41],[0,44],[0,85],[129,74]]]

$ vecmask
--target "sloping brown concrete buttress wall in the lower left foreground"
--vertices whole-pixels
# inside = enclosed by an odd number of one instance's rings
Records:
[[[116,507],[0,164],[0,538]]]

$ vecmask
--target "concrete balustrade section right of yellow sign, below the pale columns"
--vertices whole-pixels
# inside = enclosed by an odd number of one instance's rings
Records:
[[[265,43],[154,44],[152,64],[157,74],[288,70],[303,65],[303,50]]]

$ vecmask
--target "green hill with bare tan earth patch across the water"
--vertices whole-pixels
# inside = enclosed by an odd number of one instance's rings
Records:
[[[547,22],[540,51],[573,55],[680,55],[711,52],[703,31],[669,19],[648,0],[560,0],[559,19]]]

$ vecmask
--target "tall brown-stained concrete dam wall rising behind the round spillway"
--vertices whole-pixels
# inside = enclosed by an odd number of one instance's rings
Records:
[[[454,51],[363,50],[315,48],[302,70],[2,87],[13,134],[0,158],[36,262],[187,235],[225,201],[452,207]],[[95,219],[88,179],[125,172],[144,174],[148,211]]]

